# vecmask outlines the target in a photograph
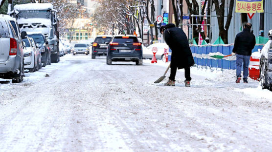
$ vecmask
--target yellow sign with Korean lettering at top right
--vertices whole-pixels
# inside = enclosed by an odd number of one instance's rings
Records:
[[[263,13],[264,0],[236,0],[235,12],[237,13]]]

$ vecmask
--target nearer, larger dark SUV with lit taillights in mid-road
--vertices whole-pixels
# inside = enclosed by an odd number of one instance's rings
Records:
[[[133,61],[142,65],[142,46],[135,36],[114,36],[107,50],[107,64],[112,61]]]

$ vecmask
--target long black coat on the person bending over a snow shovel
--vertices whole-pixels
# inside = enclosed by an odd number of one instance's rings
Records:
[[[164,26],[164,40],[172,50],[171,68],[176,65],[178,69],[190,67],[195,64],[187,37],[181,28],[175,24]]]

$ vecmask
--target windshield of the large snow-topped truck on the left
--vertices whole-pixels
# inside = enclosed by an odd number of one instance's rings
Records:
[[[17,15],[18,19],[31,19],[31,18],[42,18],[50,19],[51,13],[50,10],[30,10],[30,11],[20,11]]]

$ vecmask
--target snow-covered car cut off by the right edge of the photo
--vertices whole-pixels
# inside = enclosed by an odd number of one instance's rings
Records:
[[[269,40],[262,48],[260,58],[260,83],[263,89],[272,91],[272,30]]]

